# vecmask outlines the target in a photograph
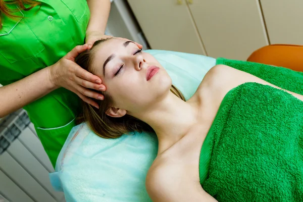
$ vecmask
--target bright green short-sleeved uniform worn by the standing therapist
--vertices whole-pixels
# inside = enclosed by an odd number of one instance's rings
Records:
[[[0,84],[18,81],[53,65],[76,45],[83,44],[89,20],[85,0],[42,0],[41,7],[1,15]],[[17,9],[16,5],[9,5]],[[39,86],[37,86],[37,89]],[[59,152],[75,124],[79,97],[59,88],[24,107],[55,167]]]

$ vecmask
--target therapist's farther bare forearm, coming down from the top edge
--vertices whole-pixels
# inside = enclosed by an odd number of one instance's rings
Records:
[[[98,31],[105,33],[106,24],[109,18],[111,1],[110,0],[87,0],[90,11],[90,19],[86,32]]]

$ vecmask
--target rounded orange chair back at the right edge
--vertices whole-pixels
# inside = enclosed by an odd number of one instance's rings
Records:
[[[303,46],[287,44],[267,45],[252,53],[247,61],[286,67],[303,72]]]

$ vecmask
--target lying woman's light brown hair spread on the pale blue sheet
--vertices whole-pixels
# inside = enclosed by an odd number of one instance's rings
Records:
[[[93,62],[94,47],[99,43],[110,39],[111,38],[96,41],[91,49],[79,54],[75,60],[76,63],[83,69],[92,73],[91,66]],[[170,90],[176,96],[185,101],[184,96],[175,86],[172,85]],[[133,131],[154,132],[153,128],[151,128],[147,123],[133,116],[125,115],[120,118],[113,118],[106,115],[106,111],[113,104],[113,98],[106,91],[101,93],[105,96],[104,100],[94,99],[94,101],[98,104],[99,109],[96,109],[87,103],[82,103],[83,112],[78,116],[78,122],[86,121],[89,127],[97,135],[104,138],[117,138],[123,134],[129,134]]]

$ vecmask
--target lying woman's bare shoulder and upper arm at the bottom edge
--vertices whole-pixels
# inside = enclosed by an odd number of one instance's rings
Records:
[[[154,202],[215,202],[198,183],[186,175],[180,164],[164,163],[156,168],[151,166],[146,176],[146,190]]]

